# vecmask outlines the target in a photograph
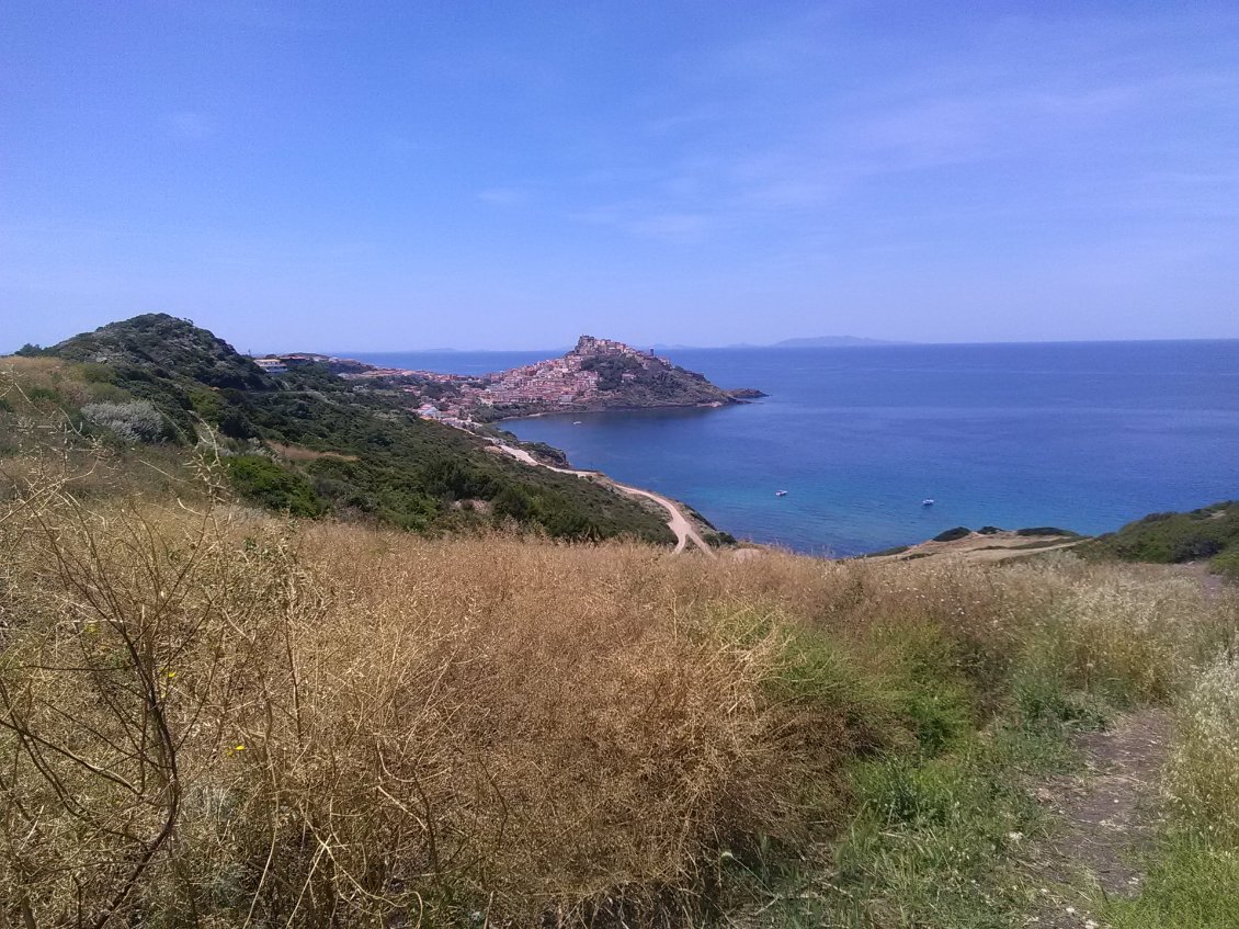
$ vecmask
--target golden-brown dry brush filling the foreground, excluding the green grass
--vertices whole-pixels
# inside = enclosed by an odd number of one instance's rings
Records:
[[[997,674],[1093,577],[425,540],[209,491],[83,503],[28,467],[0,497],[2,919],[691,910],[886,737],[846,696],[771,697],[788,623],[875,668],[891,629],[945,627]]]

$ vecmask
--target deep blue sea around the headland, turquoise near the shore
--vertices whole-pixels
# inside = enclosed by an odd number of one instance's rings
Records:
[[[479,374],[561,352],[354,357]],[[659,354],[768,396],[503,426],[577,467],[684,500],[738,539],[825,556],[957,525],[1092,535],[1239,498],[1239,341]]]

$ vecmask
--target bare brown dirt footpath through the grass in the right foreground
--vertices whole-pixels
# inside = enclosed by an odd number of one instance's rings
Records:
[[[1047,844],[1037,877],[1043,886],[1072,889],[1047,907],[1035,925],[1048,929],[1099,927],[1092,912],[1097,891],[1132,896],[1142,874],[1137,852],[1160,824],[1157,782],[1170,747],[1170,716],[1141,710],[1106,732],[1075,738],[1082,774],[1057,777],[1036,790],[1063,830]]]

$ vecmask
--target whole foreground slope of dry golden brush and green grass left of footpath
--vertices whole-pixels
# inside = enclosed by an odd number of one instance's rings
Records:
[[[1021,779],[1235,629],[1121,566],[421,539],[45,466],[0,495],[14,923],[1011,925]]]

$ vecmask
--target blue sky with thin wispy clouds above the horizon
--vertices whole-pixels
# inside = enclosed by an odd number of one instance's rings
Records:
[[[0,351],[1239,337],[1239,4],[9,0]]]

